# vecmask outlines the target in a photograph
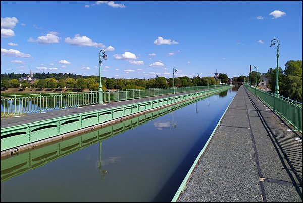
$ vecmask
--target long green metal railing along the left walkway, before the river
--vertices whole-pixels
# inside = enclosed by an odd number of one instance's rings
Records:
[[[217,86],[216,88],[222,87]],[[213,89],[215,86],[198,86],[198,90]],[[196,90],[196,86],[175,88],[176,93]],[[134,89],[103,91],[103,102],[115,102],[146,97],[155,97],[160,95],[173,94],[173,88],[158,89]],[[1,96],[1,116],[25,113],[43,113],[45,111],[72,107],[81,107],[87,105],[99,104],[99,91],[91,92],[69,92],[52,94],[28,94]]]

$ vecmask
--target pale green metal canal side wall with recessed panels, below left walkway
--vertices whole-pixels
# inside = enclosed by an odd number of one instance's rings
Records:
[[[2,128],[0,134],[1,151],[43,140],[45,138],[76,131],[88,126],[102,124],[113,119],[122,118],[127,115],[143,112],[167,104],[184,101],[189,98],[218,93],[232,87],[233,86],[224,86],[185,95],[132,103],[124,106],[95,110],[59,118],[41,120],[35,123]]]

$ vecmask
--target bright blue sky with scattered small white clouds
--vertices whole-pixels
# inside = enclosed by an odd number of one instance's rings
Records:
[[[302,1],[1,1],[1,73],[248,75],[302,60]]]

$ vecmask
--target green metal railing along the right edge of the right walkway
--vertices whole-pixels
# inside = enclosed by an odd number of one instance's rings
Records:
[[[245,87],[252,94],[265,102],[271,110],[280,114],[285,120],[287,120],[295,130],[302,133],[302,103],[283,96],[276,96],[274,93],[259,90],[255,87],[250,88],[248,85],[245,85]]]

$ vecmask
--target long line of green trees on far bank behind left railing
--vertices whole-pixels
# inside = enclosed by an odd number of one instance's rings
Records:
[[[9,87],[20,87],[19,78],[26,76],[26,74],[1,74],[1,87],[7,89]],[[49,77],[46,77],[49,76]],[[99,77],[98,76],[81,76],[73,74],[62,73],[35,73],[33,77],[36,79],[33,84],[27,83],[25,80],[21,82],[21,88],[31,87],[39,88],[77,88],[82,90],[88,88],[90,91],[99,90]],[[45,78],[46,77],[46,78]],[[220,73],[218,79],[214,77],[193,77],[189,78],[176,77],[165,78],[156,75],[151,79],[115,79],[115,78],[101,78],[102,89],[142,89],[142,88],[167,88],[173,87],[173,79],[175,87],[188,87],[188,86],[206,86],[206,85],[219,85],[221,83],[227,83],[228,76],[224,73]]]

